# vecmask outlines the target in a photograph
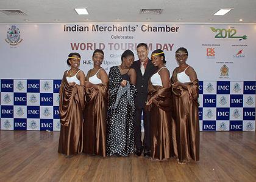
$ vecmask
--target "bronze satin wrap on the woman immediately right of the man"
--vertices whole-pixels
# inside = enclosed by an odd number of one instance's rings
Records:
[[[171,120],[171,89],[162,86],[152,86],[149,81],[149,96],[153,98],[150,110],[151,115],[151,157],[158,160],[166,160],[174,157],[174,146],[172,142],[172,129],[175,129],[175,123]],[[177,149],[175,149],[177,151]]]

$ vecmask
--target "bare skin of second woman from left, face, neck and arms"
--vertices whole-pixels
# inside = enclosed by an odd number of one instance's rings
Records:
[[[89,75],[90,77],[95,75],[98,72],[98,70],[102,68],[101,64],[104,59],[104,56],[102,55],[102,53],[96,52],[93,54],[92,59],[93,59],[93,69],[91,69],[91,72]],[[99,70],[97,77],[101,79],[102,83],[108,82],[107,72],[105,72],[104,69]],[[98,90],[97,84],[90,83],[90,81],[85,81],[85,87],[87,88],[93,87],[94,89]]]

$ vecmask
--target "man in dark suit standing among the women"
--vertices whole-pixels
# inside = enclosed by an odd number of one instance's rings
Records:
[[[144,157],[150,156],[150,115],[149,112],[144,111],[145,102],[148,97],[148,81],[151,75],[157,70],[154,67],[151,59],[148,58],[148,45],[140,43],[137,45],[137,55],[139,60],[134,61],[132,68],[135,69],[137,73],[136,78],[136,112],[135,112],[135,144],[136,152],[135,155],[140,156],[144,150]],[[141,113],[143,112],[143,126],[144,126],[144,139],[143,144],[141,141]],[[144,147],[143,147],[144,146]]]

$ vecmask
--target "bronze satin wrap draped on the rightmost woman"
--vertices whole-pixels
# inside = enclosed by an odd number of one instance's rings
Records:
[[[177,72],[176,68],[172,74],[172,84],[178,81]],[[198,79],[185,84],[188,89],[172,88],[178,158],[181,163],[187,163],[191,158],[199,160]]]

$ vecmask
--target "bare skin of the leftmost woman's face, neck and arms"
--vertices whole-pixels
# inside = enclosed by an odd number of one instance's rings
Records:
[[[73,58],[70,58],[68,60],[69,64],[70,64],[70,70],[67,72],[68,77],[72,77],[74,75],[76,75],[76,73],[79,70],[79,66],[80,66],[80,58],[77,55],[73,55]],[[80,70],[79,73],[77,73],[76,75],[77,79],[79,79],[80,81],[80,86],[84,86],[85,83],[85,73]],[[76,83],[69,83],[70,86],[74,86]]]

